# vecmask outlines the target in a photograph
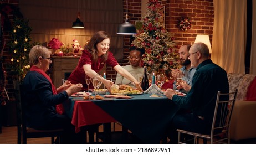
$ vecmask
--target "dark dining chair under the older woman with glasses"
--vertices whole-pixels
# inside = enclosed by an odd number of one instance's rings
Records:
[[[17,101],[17,131],[18,131],[18,137],[17,137],[17,143],[18,144],[26,144],[28,138],[45,138],[50,137],[51,143],[60,143],[60,136],[64,132],[62,128],[56,129],[56,130],[36,130],[34,128],[29,128],[26,125],[26,117],[25,117],[25,107],[24,107],[24,101],[23,96],[21,95],[22,91],[22,84],[19,84],[18,81],[14,82],[14,92],[15,92],[15,98]],[[55,137],[57,139],[55,140]]]

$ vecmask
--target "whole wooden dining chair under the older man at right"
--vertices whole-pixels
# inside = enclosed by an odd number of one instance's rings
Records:
[[[190,132],[186,130],[177,129],[178,131],[178,143],[186,143],[188,141],[194,141],[198,143],[199,139],[203,139],[203,142],[210,141],[210,143],[230,143],[229,126],[231,115],[237,96],[237,91],[230,93],[221,93],[218,91],[216,105],[213,115],[211,133],[204,135],[201,133]],[[224,100],[223,100],[224,99]],[[226,100],[225,100],[226,99]],[[181,133],[185,135],[192,135],[192,139],[185,139],[181,141]]]

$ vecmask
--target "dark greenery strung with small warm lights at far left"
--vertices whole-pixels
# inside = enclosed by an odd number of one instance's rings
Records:
[[[28,20],[14,18],[11,30],[11,41],[9,42],[9,52],[11,53],[11,64],[8,68],[14,72],[17,80],[21,82],[30,68],[29,51],[31,49],[29,35],[32,28],[28,25]]]

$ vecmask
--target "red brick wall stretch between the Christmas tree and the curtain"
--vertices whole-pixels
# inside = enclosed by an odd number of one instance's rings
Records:
[[[166,8],[166,28],[180,45],[192,44],[197,34],[208,34],[212,42],[214,10],[213,0],[167,0],[162,1]],[[178,29],[180,17],[192,19],[192,28],[183,32]]]

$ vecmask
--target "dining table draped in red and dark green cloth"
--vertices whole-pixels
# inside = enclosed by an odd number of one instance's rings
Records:
[[[180,108],[163,94],[129,96],[130,99],[105,97],[103,100],[69,97],[63,105],[75,132],[87,125],[118,121],[143,143],[160,143]]]

